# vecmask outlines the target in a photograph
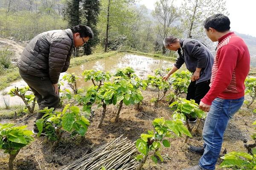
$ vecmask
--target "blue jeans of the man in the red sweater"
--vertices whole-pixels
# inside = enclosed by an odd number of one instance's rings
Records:
[[[205,170],[214,170],[221,152],[223,134],[232,116],[241,108],[244,97],[240,99],[216,98],[204,124],[204,154],[199,160],[199,166]]]

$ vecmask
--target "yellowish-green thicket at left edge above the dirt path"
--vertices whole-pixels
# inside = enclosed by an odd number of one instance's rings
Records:
[[[0,23],[0,35],[15,40],[31,40],[44,31],[67,28],[67,23],[58,14],[31,11],[6,14],[5,10],[0,10]]]

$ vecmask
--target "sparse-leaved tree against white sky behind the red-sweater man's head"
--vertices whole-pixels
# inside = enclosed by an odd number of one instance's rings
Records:
[[[205,37],[202,23],[207,17],[218,13],[228,15],[226,0],[183,0],[181,6],[181,21],[187,38]]]

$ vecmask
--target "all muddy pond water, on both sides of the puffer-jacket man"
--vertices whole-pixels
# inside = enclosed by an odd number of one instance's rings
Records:
[[[153,59],[150,57],[143,57],[143,56],[137,56],[132,54],[127,54],[125,56],[121,57],[108,57],[104,59],[98,59],[94,61],[90,61],[87,63],[84,63],[82,65],[69,68],[66,73],[62,73],[60,76],[60,81],[62,81],[62,77],[64,74],[70,74],[74,73],[79,76],[79,80],[77,81],[78,88],[83,87],[89,87],[92,85],[91,82],[84,82],[83,77],[81,76],[82,72],[84,70],[102,70],[102,71],[110,71],[111,74],[113,74],[117,68],[125,68],[125,67],[132,67],[134,68],[135,73],[140,78],[146,77],[148,74],[154,74],[153,71],[156,68],[166,69],[169,67],[172,67],[172,62],[166,61],[163,59]],[[0,106],[5,106],[4,99],[9,102],[9,105],[23,105],[23,101],[15,96],[11,97],[9,95],[6,95],[6,92],[8,92],[11,88],[16,87],[22,87],[25,86],[26,82],[23,80],[19,80],[17,82],[12,83],[11,86],[4,89],[3,91],[0,91]],[[64,84],[64,88],[69,88],[67,83]],[[4,94],[4,95],[3,95]]]

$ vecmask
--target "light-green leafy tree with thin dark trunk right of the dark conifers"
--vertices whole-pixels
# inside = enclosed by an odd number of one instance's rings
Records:
[[[135,0],[101,0],[98,28],[101,30],[100,36],[105,37],[105,52],[110,44],[114,45],[112,49],[125,44],[126,35],[131,31],[131,23],[135,17],[129,5],[134,2]]]

